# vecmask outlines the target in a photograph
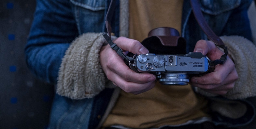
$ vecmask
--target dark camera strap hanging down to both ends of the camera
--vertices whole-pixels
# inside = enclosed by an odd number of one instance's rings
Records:
[[[216,59],[213,61],[208,61],[210,67],[211,66],[215,66],[217,64],[223,64],[226,59],[227,59],[227,55],[228,55],[228,49],[227,47],[224,45],[224,43],[222,42],[222,40],[220,39],[220,37],[218,37],[217,35],[215,35],[215,33],[211,30],[211,28],[208,26],[208,24],[206,23],[206,20],[202,14],[200,5],[198,3],[198,0],[190,0],[191,6],[192,6],[192,11],[193,14],[196,18],[197,23],[199,24],[199,26],[202,28],[202,30],[204,31],[204,33],[206,34],[207,38],[209,38],[211,41],[213,41],[215,43],[216,46],[219,46],[220,48],[223,48],[224,50],[224,55],[222,55],[220,57],[220,59]],[[107,43],[109,43],[109,45],[111,46],[111,48],[113,48],[119,56],[121,56],[122,58],[126,59],[129,61],[130,66],[134,66],[132,61],[134,61],[134,58],[128,57],[126,56],[122,49],[119,48],[115,43],[113,43],[113,41],[111,40],[111,21],[114,15],[114,11],[115,11],[115,6],[116,6],[116,0],[111,0],[109,8],[107,10],[107,14],[106,14],[106,27],[107,27],[107,33],[103,33],[103,37],[107,40]],[[136,55],[136,54],[135,54]],[[134,56],[135,57],[135,56]],[[132,68],[132,67],[131,67]]]

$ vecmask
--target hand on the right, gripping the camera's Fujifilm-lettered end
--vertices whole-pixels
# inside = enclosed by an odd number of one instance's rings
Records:
[[[220,59],[221,55],[224,54],[212,41],[206,40],[199,40],[195,45],[194,52],[201,52],[210,60]],[[191,84],[207,92],[223,95],[234,88],[237,79],[235,64],[227,57],[226,62],[216,65],[213,72],[201,77],[192,77]]]

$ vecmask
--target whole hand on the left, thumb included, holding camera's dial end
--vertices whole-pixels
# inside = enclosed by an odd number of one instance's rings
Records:
[[[123,51],[129,51],[134,54],[147,54],[149,52],[137,40],[119,37],[113,42]],[[155,75],[150,73],[136,73],[131,70],[109,44],[101,48],[100,63],[107,78],[125,92],[139,94],[155,86]]]

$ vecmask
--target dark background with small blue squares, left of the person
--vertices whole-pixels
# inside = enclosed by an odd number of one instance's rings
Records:
[[[0,129],[46,129],[53,86],[28,70],[24,47],[36,0],[0,0]]]

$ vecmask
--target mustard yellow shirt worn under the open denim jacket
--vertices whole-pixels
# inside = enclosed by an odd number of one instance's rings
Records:
[[[156,27],[173,27],[181,32],[182,4],[183,0],[130,0],[129,38],[141,42]],[[153,89],[138,95],[121,91],[103,126],[157,128],[183,124],[208,116],[206,104],[191,85],[163,86],[157,82]]]

